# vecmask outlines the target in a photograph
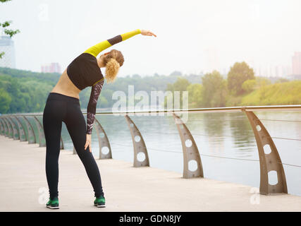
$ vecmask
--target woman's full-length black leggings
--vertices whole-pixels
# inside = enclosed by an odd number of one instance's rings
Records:
[[[94,196],[104,196],[97,163],[90,153],[89,147],[85,150],[86,122],[80,110],[80,100],[60,93],[49,93],[43,112],[43,127],[46,140],[46,176],[50,198],[59,196],[59,153],[62,121],[66,124],[75,150],[85,166],[94,189]]]

